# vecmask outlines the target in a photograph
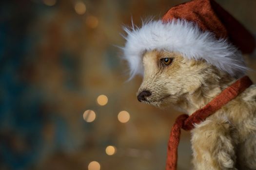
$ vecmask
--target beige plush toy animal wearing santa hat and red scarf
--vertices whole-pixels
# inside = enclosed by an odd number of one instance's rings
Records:
[[[166,170],[177,168],[181,128],[191,130],[195,170],[256,170],[256,85],[241,54],[255,49],[254,37],[214,0],[125,31],[131,78],[143,76],[138,101],[186,113],[173,125]]]

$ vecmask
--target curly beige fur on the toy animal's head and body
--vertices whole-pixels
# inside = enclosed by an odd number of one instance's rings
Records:
[[[163,67],[161,58],[174,58]],[[144,78],[138,90],[151,92],[145,103],[170,104],[187,114],[210,102],[236,81],[205,61],[178,53],[148,51],[143,55]],[[251,85],[192,131],[195,170],[256,170],[256,85]]]

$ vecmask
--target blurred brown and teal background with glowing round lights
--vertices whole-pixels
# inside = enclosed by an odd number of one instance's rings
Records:
[[[137,101],[141,78],[125,82],[117,46],[131,17],[185,1],[1,0],[0,170],[164,170],[180,113]],[[256,33],[256,0],[217,2]],[[178,170],[191,169],[189,140],[182,132]]]

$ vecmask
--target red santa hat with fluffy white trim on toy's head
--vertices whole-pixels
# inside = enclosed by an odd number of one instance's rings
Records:
[[[129,63],[131,78],[143,75],[142,54],[151,50],[204,59],[240,77],[247,69],[241,53],[253,52],[256,47],[254,36],[214,0],[182,3],[172,7],[161,20],[124,30],[127,33],[124,58]]]

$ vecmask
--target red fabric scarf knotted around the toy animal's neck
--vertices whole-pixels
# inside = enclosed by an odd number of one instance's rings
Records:
[[[238,79],[234,84],[224,89],[211,102],[209,102],[203,108],[194,112],[191,116],[188,116],[186,114],[178,116],[172,127],[168,142],[165,170],[177,169],[177,149],[181,128],[186,131],[192,130],[195,127],[194,124],[199,124],[200,122],[204,121],[208,116],[212,115],[223,105],[236,98],[236,96],[238,96],[241,92],[243,92],[252,84],[253,83],[250,78],[248,76],[244,76]]]

